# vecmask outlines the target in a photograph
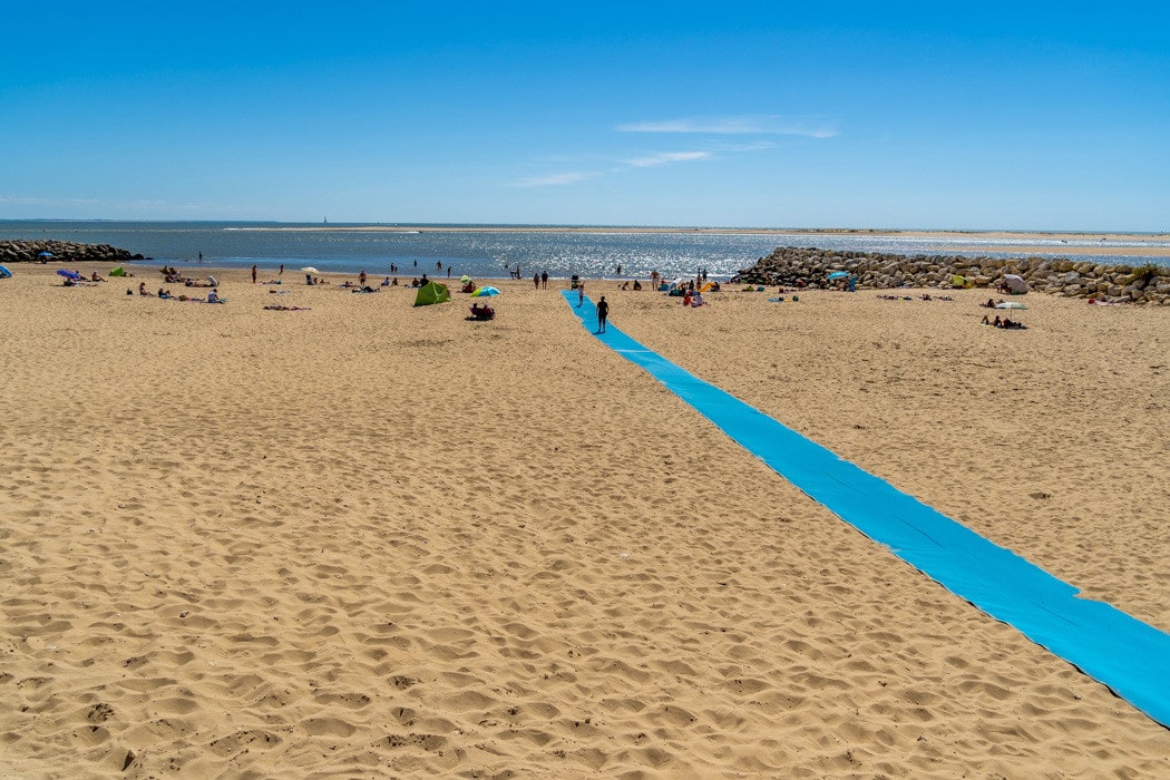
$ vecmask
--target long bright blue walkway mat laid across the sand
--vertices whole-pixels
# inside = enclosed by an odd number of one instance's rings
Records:
[[[578,306],[577,292],[564,296],[586,330],[594,332],[593,303],[586,298]],[[1072,585],[683,371],[612,325],[594,334],[810,498],[1170,726],[1170,634],[1104,602],[1079,598]]]

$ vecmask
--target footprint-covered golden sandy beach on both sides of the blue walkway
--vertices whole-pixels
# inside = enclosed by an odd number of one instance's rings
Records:
[[[560,281],[493,281],[473,323],[297,275],[225,270],[209,305],[13,270],[0,776],[1170,774],[1165,727],[769,470]],[[1002,331],[986,290],[587,289],[1170,631],[1165,306],[1032,294]]]

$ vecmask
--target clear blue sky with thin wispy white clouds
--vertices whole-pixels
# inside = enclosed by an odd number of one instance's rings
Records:
[[[254,6],[9,8],[0,219],[1170,230],[1170,4]]]

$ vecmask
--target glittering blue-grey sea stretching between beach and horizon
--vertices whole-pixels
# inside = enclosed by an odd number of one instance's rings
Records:
[[[422,225],[387,230],[390,225],[332,225],[281,222],[119,222],[0,220],[0,240],[57,240],[105,243],[151,258],[152,264],[208,268],[249,268],[263,271],[297,271],[370,276],[397,274],[412,277],[424,272],[445,277],[448,272],[476,278],[530,278],[546,271],[553,277],[574,274],[583,278],[647,277],[652,271],[690,276],[702,270],[710,278],[727,279],[750,268],[777,247],[815,247],[840,251],[892,253],[902,255],[964,255],[1020,257],[1068,256],[1071,247],[1085,247],[1075,260],[1104,264],[1170,264],[1168,257],[1142,254],[1147,247],[1168,247],[1170,240],[1126,242],[1109,239],[1110,254],[1095,255],[1097,236],[1067,239],[1035,234],[1004,240],[980,233],[948,237],[883,235],[876,233],[736,233],[695,228],[590,228],[566,230],[560,226]],[[567,226],[566,226],[567,227]],[[576,227],[576,226],[573,226]],[[459,228],[459,229],[452,229]],[[741,228],[744,229],[744,228]],[[1021,251],[1012,253],[1019,246]],[[1000,251],[991,251],[994,247]],[[1133,248],[1134,254],[1115,254]],[[1009,249],[1009,251],[1002,251]],[[1042,251],[1037,253],[1034,249]],[[1051,249],[1051,251],[1049,251]],[[201,256],[201,260],[200,260]],[[441,269],[440,269],[441,264]],[[392,267],[397,271],[392,271]]]

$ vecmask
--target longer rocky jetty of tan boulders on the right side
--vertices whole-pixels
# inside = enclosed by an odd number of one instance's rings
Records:
[[[1170,304],[1170,268],[1163,265],[1102,265],[1067,258],[958,257],[952,255],[892,255],[865,251],[833,251],[780,247],[760,257],[751,268],[731,277],[732,283],[784,284],[798,281],[817,287],[830,274],[846,271],[859,289],[951,288],[962,276],[972,287],[999,284],[1002,276],[1023,276],[1030,290],[1066,297],[1097,297],[1106,301]]]

